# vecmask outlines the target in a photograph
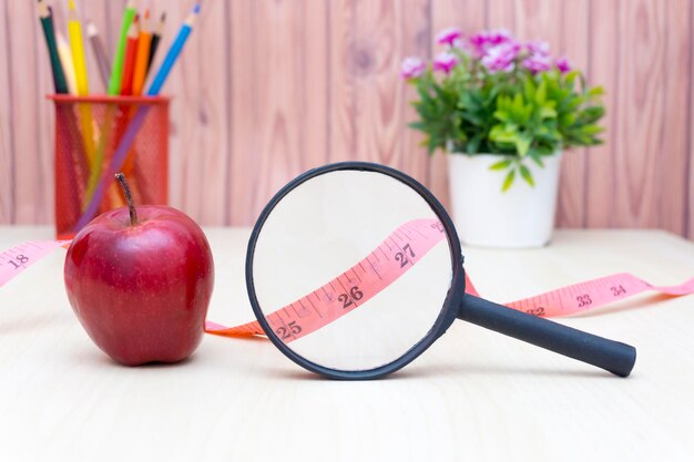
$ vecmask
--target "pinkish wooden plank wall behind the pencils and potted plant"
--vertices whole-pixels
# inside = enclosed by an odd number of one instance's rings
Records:
[[[33,1],[0,2],[0,223],[52,222],[49,61]],[[64,18],[62,1],[55,6]],[[114,48],[124,0],[78,8]],[[166,42],[190,1],[169,12]],[[428,158],[398,68],[431,57],[437,31],[508,28],[548,40],[608,90],[608,142],[565,157],[558,223],[659,227],[694,237],[692,0],[205,0],[175,95],[172,204],[206,225],[248,225],[305,170],[392,165],[447,202],[446,160]],[[88,66],[95,91],[91,50]]]

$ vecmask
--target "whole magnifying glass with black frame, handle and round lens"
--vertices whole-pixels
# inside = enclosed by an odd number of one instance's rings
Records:
[[[246,257],[253,310],[272,342],[333,379],[376,379],[421,355],[456,319],[627,377],[634,347],[465,292],[441,204],[396,170],[312,170],[262,212]]]

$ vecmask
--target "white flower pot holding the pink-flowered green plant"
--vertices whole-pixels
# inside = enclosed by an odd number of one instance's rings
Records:
[[[453,220],[466,245],[501,248],[540,247],[554,228],[561,152],[542,157],[544,167],[525,163],[534,187],[516,175],[504,193],[507,171],[490,171],[500,155],[448,155]]]

